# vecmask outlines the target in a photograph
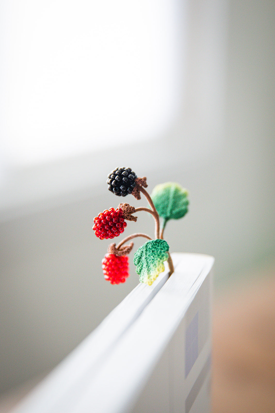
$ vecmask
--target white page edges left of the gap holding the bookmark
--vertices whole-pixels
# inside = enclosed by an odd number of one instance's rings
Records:
[[[178,256],[173,258],[175,266]],[[140,283],[119,304],[105,320],[55,368],[43,382],[31,393],[20,407],[20,412],[39,413],[59,411],[59,404],[69,399],[71,392],[78,392],[83,387],[85,377],[94,376],[100,368],[102,359],[121,337],[123,332],[140,315],[145,306],[161,289],[168,279],[168,266],[153,285]],[[50,396],[49,396],[50,395]],[[17,409],[16,409],[17,411]]]

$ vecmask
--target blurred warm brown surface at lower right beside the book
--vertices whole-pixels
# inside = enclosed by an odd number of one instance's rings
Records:
[[[275,265],[218,300],[213,413],[275,412]]]

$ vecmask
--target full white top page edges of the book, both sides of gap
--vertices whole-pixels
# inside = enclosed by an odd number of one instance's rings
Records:
[[[167,281],[137,286],[14,413],[130,411],[213,265],[197,254],[173,261]]]

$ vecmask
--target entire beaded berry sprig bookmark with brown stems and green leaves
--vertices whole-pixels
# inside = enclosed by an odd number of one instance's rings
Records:
[[[101,240],[112,239],[123,233],[128,221],[137,221],[133,214],[145,211],[152,214],[155,221],[155,239],[144,233],[135,233],[124,238],[119,244],[110,244],[108,253],[102,260],[102,269],[105,280],[111,284],[125,282],[129,276],[128,254],[133,249],[133,242],[124,245],[136,237],[144,237],[147,242],[140,247],[134,255],[136,272],[140,281],[152,285],[159,273],[164,271],[164,261],[168,262],[169,276],[173,273],[173,262],[169,254],[169,246],[163,239],[166,223],[170,219],[179,219],[188,211],[189,201],[187,190],[179,184],[166,182],[156,185],[152,195],[144,189],[147,188],[146,177],[138,178],[131,168],[116,168],[111,171],[107,179],[108,189],[117,196],[125,197],[132,194],[135,199],[141,199],[140,192],[145,195],[150,208],[132,207],[130,204],[119,204],[114,209],[105,209],[94,218],[92,229]],[[160,218],[161,225],[160,225]]]

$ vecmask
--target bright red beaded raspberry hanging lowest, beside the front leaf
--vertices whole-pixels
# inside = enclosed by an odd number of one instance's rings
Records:
[[[102,260],[104,278],[111,284],[120,284],[129,277],[129,263],[127,255],[106,254]]]

